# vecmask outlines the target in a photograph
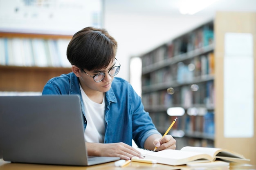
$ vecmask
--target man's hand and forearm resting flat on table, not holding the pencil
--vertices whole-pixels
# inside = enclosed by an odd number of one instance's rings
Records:
[[[132,157],[144,158],[139,151],[123,142],[113,144],[86,143],[89,156],[120,157],[129,160]]]

